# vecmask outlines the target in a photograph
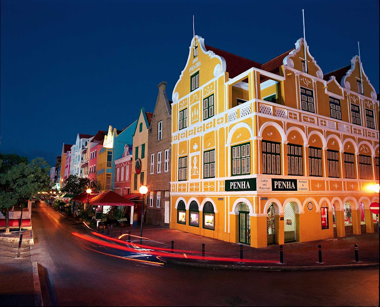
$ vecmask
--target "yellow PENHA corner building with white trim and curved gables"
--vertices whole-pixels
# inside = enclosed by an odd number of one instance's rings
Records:
[[[260,64],[195,36],[173,90],[170,227],[252,247],[373,232],[378,116],[358,56],[324,76],[302,38]]]

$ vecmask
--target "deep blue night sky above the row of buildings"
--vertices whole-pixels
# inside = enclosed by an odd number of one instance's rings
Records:
[[[378,1],[1,1],[1,152],[55,164],[62,143],[153,112],[195,32],[260,63],[303,36],[324,74],[358,54],[379,91]],[[228,71],[228,67],[227,67]]]

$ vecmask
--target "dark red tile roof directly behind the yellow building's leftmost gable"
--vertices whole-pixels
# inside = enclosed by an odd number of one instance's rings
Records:
[[[230,52],[214,48],[209,45],[205,45],[206,50],[211,50],[216,55],[220,55],[224,58],[226,64],[226,71],[229,73],[230,78],[235,78],[236,76],[244,73],[252,67],[260,68],[261,64],[250,59],[241,57]]]

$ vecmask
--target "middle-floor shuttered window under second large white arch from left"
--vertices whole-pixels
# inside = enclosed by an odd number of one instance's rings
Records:
[[[281,175],[280,143],[262,141],[262,174]]]

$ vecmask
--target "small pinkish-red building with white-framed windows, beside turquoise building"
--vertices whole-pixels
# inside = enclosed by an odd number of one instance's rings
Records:
[[[115,160],[115,188],[119,195],[127,195],[131,191],[131,160],[132,145],[124,146],[124,153],[120,159]]]

